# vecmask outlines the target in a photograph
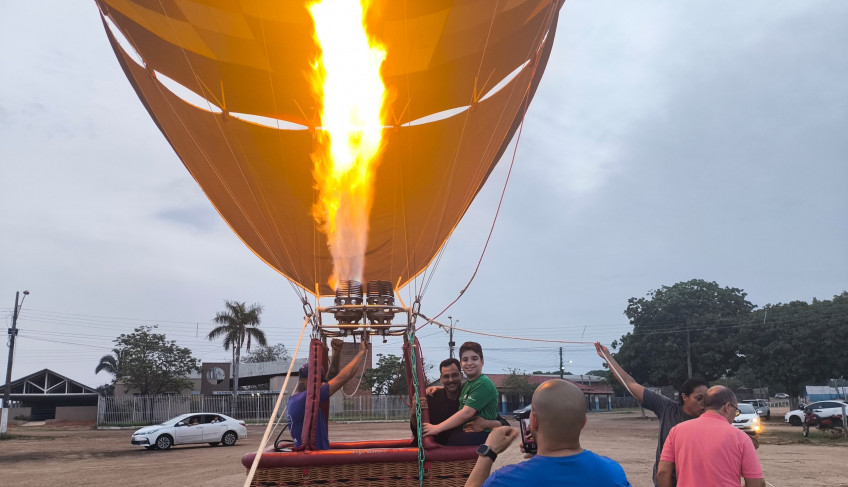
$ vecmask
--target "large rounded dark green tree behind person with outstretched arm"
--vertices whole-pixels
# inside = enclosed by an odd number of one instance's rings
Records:
[[[742,363],[738,325],[754,309],[745,296],[693,279],[630,298],[624,314],[633,331],[621,337],[615,359],[643,384],[680,385],[689,377],[688,363],[692,375],[707,381],[732,373]]]

